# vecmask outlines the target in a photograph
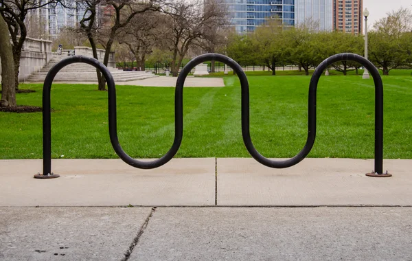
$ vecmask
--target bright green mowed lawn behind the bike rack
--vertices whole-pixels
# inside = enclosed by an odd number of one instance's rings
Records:
[[[307,137],[308,76],[249,76],[251,137],[266,157],[293,157]],[[384,157],[412,159],[412,77],[383,77]],[[176,157],[250,157],[242,141],[240,84],[184,89],[184,133]],[[18,104],[41,106],[36,93]],[[52,157],[117,158],[108,137],[107,93],[95,85],[54,84]],[[374,83],[361,76],[322,77],[317,93],[317,139],[308,157],[374,157]],[[174,137],[174,88],[117,86],[117,126],[135,158],[160,157]],[[42,157],[41,113],[0,113],[1,159]]]

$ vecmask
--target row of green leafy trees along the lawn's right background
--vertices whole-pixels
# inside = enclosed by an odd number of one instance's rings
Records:
[[[412,66],[412,13],[400,8],[377,21],[368,32],[369,60],[389,75],[391,69]],[[253,34],[232,34],[227,54],[240,65],[265,65],[276,74],[276,67],[297,65],[306,75],[325,58],[349,52],[363,56],[363,35],[343,32],[319,32],[313,21],[295,27],[284,26],[277,20],[256,28]],[[346,75],[356,70],[358,63],[343,61],[332,65]]]

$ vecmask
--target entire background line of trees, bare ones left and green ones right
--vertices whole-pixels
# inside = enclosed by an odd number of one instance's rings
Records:
[[[205,52],[227,54],[240,65],[265,65],[276,73],[281,65],[297,65],[308,75],[322,60],[341,52],[364,54],[363,36],[341,32],[319,32],[313,21],[290,27],[273,19],[255,32],[238,35],[230,29],[224,0],[0,0],[0,58],[2,96],[0,106],[16,106],[19,66],[27,36],[43,35],[27,22],[30,12],[59,4],[67,10],[77,8],[80,21],[67,27],[55,43],[88,45],[98,58],[98,48],[117,60],[135,60],[137,69],[145,62],[170,66],[177,76],[184,58]],[[73,7],[76,3],[76,7]],[[34,23],[36,24],[36,23]],[[34,34],[34,35],[30,35]],[[11,44],[10,44],[11,43]],[[369,60],[385,75],[412,63],[412,14],[401,8],[380,19],[369,32]],[[189,56],[189,57],[188,57]],[[333,65],[346,74],[359,65],[343,61]],[[211,63],[214,69],[214,63]],[[100,71],[98,89],[106,82]]]

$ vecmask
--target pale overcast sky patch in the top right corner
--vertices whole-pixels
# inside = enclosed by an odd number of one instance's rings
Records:
[[[363,9],[369,10],[368,27],[370,28],[375,21],[387,16],[387,12],[403,8],[412,8],[412,0],[363,0]]]

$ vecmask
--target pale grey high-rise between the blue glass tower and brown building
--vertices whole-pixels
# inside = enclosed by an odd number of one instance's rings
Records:
[[[312,23],[321,31],[332,31],[332,1],[295,0],[295,25]]]

